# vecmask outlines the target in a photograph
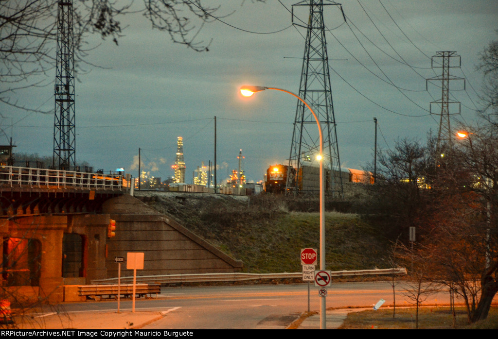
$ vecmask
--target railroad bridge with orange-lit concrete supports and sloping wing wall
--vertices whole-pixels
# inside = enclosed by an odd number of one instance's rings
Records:
[[[129,193],[118,174],[1,166],[0,299],[63,301],[65,286],[117,276],[126,252],[145,253],[146,275],[242,268]]]

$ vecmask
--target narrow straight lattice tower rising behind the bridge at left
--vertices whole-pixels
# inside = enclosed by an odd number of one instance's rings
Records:
[[[73,1],[59,0],[52,160],[54,168],[69,169],[76,166],[74,98]]]

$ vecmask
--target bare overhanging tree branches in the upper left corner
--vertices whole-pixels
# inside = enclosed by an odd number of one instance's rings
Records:
[[[255,0],[263,1],[263,0]],[[85,64],[92,46],[88,37],[99,34],[118,44],[124,34],[120,22],[127,14],[142,13],[153,29],[169,34],[175,43],[194,51],[209,51],[211,41],[202,41],[198,33],[204,24],[215,20],[219,7],[202,4],[201,0],[76,0],[73,3],[74,48],[76,64]],[[242,0],[242,2],[244,2]],[[19,90],[48,85],[55,65],[57,38],[57,1],[0,1],[0,102],[28,111],[37,111],[15,101],[11,95]],[[93,46],[95,47],[95,46]],[[36,77],[48,75],[49,77]]]

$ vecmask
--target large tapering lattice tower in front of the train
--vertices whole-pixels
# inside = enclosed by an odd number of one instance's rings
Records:
[[[342,195],[343,185],[341,175],[338,175],[334,179],[333,174],[333,170],[339,170],[340,172],[341,163],[330,85],[325,25],[323,22],[324,5],[340,5],[340,3],[333,1],[324,3],[323,0],[300,1],[293,5],[292,10],[294,11],[294,6],[309,6],[308,22],[307,24],[303,22],[295,23],[293,16],[292,23],[307,29],[299,96],[315,111],[322,125],[324,169],[328,173],[326,179],[327,191],[334,191]],[[319,135],[316,121],[312,113],[298,100],[289,156],[289,165],[296,168],[297,175],[301,176],[301,180],[296,180],[296,186],[303,179],[303,162],[315,159],[319,150]],[[287,188],[290,185],[287,182]],[[295,189],[297,190],[298,187],[295,187]],[[318,187],[316,187],[316,190],[318,190]]]

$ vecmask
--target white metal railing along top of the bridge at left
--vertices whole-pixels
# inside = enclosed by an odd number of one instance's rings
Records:
[[[0,185],[9,187],[124,190],[129,183],[126,182],[123,175],[118,174],[0,166]]]

